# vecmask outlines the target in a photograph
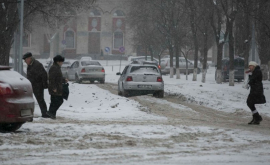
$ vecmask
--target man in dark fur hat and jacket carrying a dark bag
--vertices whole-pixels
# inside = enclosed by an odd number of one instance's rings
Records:
[[[65,80],[63,78],[61,72],[61,66],[64,61],[64,57],[56,55],[53,58],[53,65],[49,70],[49,93],[51,95],[51,104],[47,115],[52,119],[56,118],[56,111],[63,103],[63,83],[67,82],[67,79]]]

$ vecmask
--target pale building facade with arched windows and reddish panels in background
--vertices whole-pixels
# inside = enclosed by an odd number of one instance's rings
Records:
[[[76,14],[58,31],[33,25],[25,31],[23,53],[32,52],[40,58],[62,54],[66,58],[105,55],[134,55],[132,32],[126,24],[128,5],[121,0],[99,0],[97,6]],[[105,49],[107,48],[107,49]],[[14,54],[14,49],[10,54]]]

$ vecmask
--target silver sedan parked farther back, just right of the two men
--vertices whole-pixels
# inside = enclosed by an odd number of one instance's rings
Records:
[[[67,74],[63,75],[69,80],[75,80],[77,83],[81,83],[84,80],[88,80],[91,83],[99,81],[101,84],[105,82],[105,70],[98,61],[84,60],[74,61],[70,67],[68,67]]]

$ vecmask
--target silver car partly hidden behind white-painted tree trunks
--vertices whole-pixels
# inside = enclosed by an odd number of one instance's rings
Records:
[[[186,73],[186,61],[188,62],[188,74],[193,73],[194,65],[189,59],[185,59],[184,57],[179,57],[179,69],[180,73]],[[174,74],[176,73],[176,58],[173,58],[173,68]],[[170,58],[163,58],[160,61],[161,73],[162,74],[169,74],[170,73]],[[199,74],[201,69],[198,67],[197,73]]]

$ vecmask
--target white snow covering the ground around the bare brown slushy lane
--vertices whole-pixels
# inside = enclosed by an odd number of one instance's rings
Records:
[[[45,64],[46,60],[40,60]],[[99,61],[105,68],[105,83],[117,84],[128,61]],[[164,75],[165,97],[237,114],[249,113],[249,90],[243,82],[216,84],[215,68],[202,75],[181,74],[180,79]],[[16,133],[0,134],[0,164],[263,164],[270,162],[269,134],[250,129],[168,124],[165,116],[143,111],[132,98],[99,88],[96,84],[70,83],[70,96],[57,112],[57,119],[41,118],[36,102],[34,121]],[[270,116],[270,81],[263,81],[267,103],[256,105],[260,114]],[[117,88],[116,88],[117,90]],[[185,105],[142,96],[152,104],[163,104],[183,113],[196,112]],[[45,90],[49,107],[50,95]],[[243,125],[251,119],[247,118]],[[263,123],[264,121],[262,121]],[[132,124],[130,124],[132,123]],[[263,127],[267,127],[262,125]],[[253,127],[253,126],[250,126]],[[261,126],[257,126],[261,127]],[[268,128],[268,132],[269,132]]]

